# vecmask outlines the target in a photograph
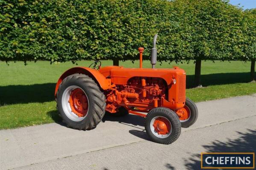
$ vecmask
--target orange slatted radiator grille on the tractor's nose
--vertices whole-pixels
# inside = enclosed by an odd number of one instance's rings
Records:
[[[185,102],[186,75],[178,76],[178,103]]]

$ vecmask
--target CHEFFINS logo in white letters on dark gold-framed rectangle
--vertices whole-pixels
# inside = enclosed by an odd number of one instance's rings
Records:
[[[202,169],[254,169],[255,153],[201,153]]]

